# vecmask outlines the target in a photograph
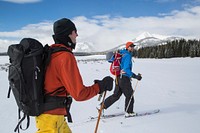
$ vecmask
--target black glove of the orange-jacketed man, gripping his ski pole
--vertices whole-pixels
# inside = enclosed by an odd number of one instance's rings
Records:
[[[113,78],[110,76],[106,76],[102,80],[94,80],[94,82],[99,85],[99,94],[103,93],[104,91],[111,91],[113,88]]]

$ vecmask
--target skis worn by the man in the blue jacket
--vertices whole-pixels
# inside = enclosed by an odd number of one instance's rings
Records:
[[[151,110],[151,111],[138,112],[138,113],[136,113],[135,116],[129,116],[129,117],[125,117],[125,118],[152,115],[152,114],[156,114],[159,112],[160,112],[160,109],[155,109],[155,110]],[[109,118],[119,117],[119,116],[125,116],[125,113],[120,112],[120,113],[115,113],[115,114],[103,115],[103,116],[101,116],[101,119],[109,119]],[[96,120],[97,118],[98,117],[90,117],[90,120],[93,121],[93,120]]]

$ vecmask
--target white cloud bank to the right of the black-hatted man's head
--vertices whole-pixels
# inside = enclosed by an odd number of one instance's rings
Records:
[[[172,11],[163,16],[115,17],[109,15],[74,18],[80,28],[79,41],[93,42],[97,49],[109,49],[147,31],[153,34],[200,39],[200,6]],[[85,28],[87,27],[87,28]]]

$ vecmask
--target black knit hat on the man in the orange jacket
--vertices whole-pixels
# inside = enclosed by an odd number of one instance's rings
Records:
[[[55,35],[69,35],[73,30],[76,30],[76,26],[67,18],[57,20],[53,25],[53,31]]]

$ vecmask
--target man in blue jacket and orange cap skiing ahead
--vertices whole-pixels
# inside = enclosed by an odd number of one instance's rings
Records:
[[[133,111],[133,104],[134,104],[134,97],[131,96],[133,94],[133,88],[131,85],[131,78],[135,78],[137,80],[141,80],[142,77],[140,74],[136,75],[132,72],[132,52],[134,50],[134,43],[133,42],[127,42],[126,43],[126,49],[119,51],[123,56],[121,59],[120,69],[121,74],[120,76],[117,76],[118,84],[115,86],[114,93],[109,96],[103,105],[104,109],[109,108],[113,103],[115,103],[122,95],[122,93],[125,95],[125,116],[134,116],[136,113]],[[131,99],[131,102],[128,106],[128,103]]]

